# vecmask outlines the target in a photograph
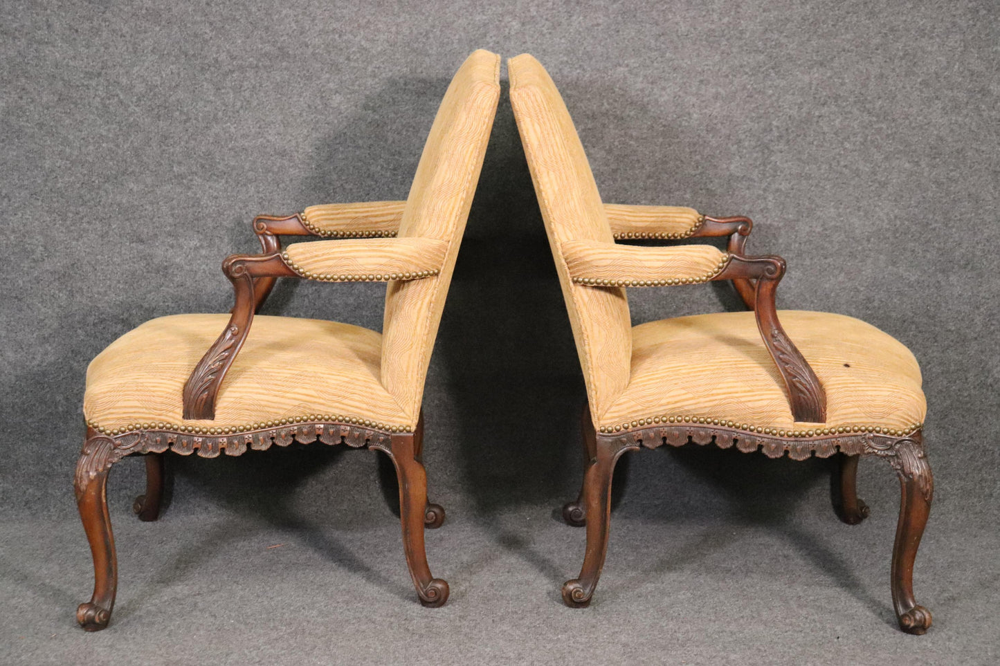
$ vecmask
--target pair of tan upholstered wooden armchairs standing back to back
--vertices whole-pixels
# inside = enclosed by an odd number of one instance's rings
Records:
[[[146,493],[134,509],[159,515],[162,454],[242,455],[292,442],[346,444],[388,455],[400,487],[400,520],[420,602],[440,606],[424,529],[444,510],[427,500],[421,399],[459,242],[500,96],[499,56],[476,51],[445,93],[406,201],[334,204],[254,220],[263,252],[223,263],[230,315],[162,317],[126,333],[87,370],[87,435],[76,470],[77,503],[94,559],[95,587],[77,619],[107,626],[117,564],[106,500],[112,465],[144,455]],[[892,556],[900,626],[923,633],[912,571],[933,494],[921,428],[926,411],[913,355],[856,319],[777,311],[785,272],[776,256],[749,256],[747,218],[691,208],[601,201],[572,120],[544,68],[509,61],[510,99],[587,386],[585,474],[564,507],[586,525],[569,606],[590,603],[604,565],[611,478],[626,451],[714,443],[796,460],[837,456],[836,510],[854,524],[860,456],[883,458],[902,487]],[[280,236],[319,237],[282,249]],[[712,245],[649,247],[629,239],[728,237]],[[277,278],[386,282],[382,333],[330,321],[255,315]],[[729,280],[751,311],[679,317],[632,327],[627,288]],[[794,341],[794,342],[793,342]]]

